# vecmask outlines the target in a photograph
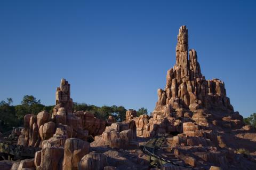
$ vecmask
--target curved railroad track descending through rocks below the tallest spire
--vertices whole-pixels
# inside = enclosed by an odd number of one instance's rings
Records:
[[[170,136],[167,134],[158,134],[153,139],[145,143],[142,151],[149,156],[151,166],[161,167],[163,164],[170,163],[175,166],[182,166],[193,169],[187,166],[182,160],[177,159],[174,153],[168,149],[170,144]]]

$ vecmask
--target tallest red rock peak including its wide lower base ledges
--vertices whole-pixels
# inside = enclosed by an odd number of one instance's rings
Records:
[[[213,120],[222,126],[242,126],[243,118],[234,112],[224,83],[219,79],[206,80],[196,51],[188,50],[186,26],[180,27],[177,39],[176,63],[167,71],[165,89],[157,90],[158,101],[151,113],[152,118],[140,117],[137,120],[137,135],[152,137],[158,133],[181,133],[182,122],[191,119],[207,127]],[[214,114],[214,111],[223,114]]]

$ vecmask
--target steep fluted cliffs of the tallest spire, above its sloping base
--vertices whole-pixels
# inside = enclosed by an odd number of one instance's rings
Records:
[[[169,114],[172,109],[222,109],[233,112],[226,96],[225,84],[219,79],[206,80],[201,73],[194,49],[188,50],[188,29],[181,26],[176,46],[176,63],[167,71],[165,89],[157,90],[153,112]]]

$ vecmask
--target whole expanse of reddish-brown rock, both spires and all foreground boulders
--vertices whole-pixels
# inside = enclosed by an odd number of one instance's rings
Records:
[[[206,80],[202,75],[196,51],[188,48],[186,26],[179,29],[176,63],[167,71],[164,90],[158,89],[157,94],[151,116],[137,117],[137,112],[130,109],[125,121],[116,123],[112,116],[105,121],[87,111],[73,113],[70,85],[62,79],[52,115],[42,111],[37,116],[24,117],[18,144],[39,146],[42,150],[36,152],[34,159],[8,163],[8,167],[148,169],[150,157],[160,153],[157,158],[165,155],[189,166],[166,163],[161,166],[166,170],[255,168],[255,129],[244,126],[243,117],[234,112],[224,83]],[[88,135],[94,136],[90,144],[86,142]],[[147,142],[156,135],[159,138],[155,143]],[[149,151],[139,150],[142,143],[149,143],[154,154],[147,157],[145,153]],[[239,151],[241,148],[249,153]],[[7,166],[6,162],[3,165]]]

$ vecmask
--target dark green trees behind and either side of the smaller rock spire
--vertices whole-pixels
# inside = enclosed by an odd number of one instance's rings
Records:
[[[53,106],[44,106],[40,100],[36,100],[33,95],[25,95],[21,104],[17,106],[12,105],[12,98],[7,98],[6,101],[0,102],[0,132],[4,133],[10,131],[12,127],[23,126],[23,118],[27,114],[37,115],[40,111],[46,110],[52,113]],[[125,120],[126,109],[123,106],[94,106],[86,103],[74,103],[73,111],[89,111],[95,117],[107,120],[108,116],[112,115],[117,121],[122,122]],[[137,111],[138,116],[148,114],[146,108],[140,108]]]

